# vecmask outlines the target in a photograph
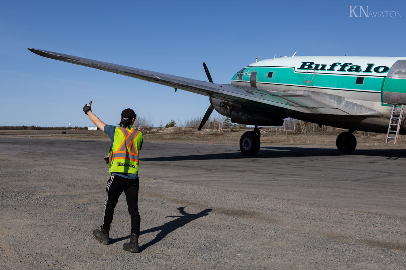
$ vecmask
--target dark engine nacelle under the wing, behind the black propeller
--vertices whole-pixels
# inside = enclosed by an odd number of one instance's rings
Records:
[[[270,125],[281,126],[283,125],[283,119],[273,119],[265,115],[254,113],[240,104],[233,102],[218,100],[216,98],[210,98],[210,102],[214,109],[226,117],[230,117],[231,122],[244,124],[244,125]]]

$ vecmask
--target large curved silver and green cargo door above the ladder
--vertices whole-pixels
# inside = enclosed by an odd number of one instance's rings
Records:
[[[386,76],[382,101],[387,104],[406,104],[406,60],[398,60]]]

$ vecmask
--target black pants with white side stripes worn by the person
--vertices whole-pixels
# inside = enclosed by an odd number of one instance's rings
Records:
[[[139,179],[128,179],[112,174],[108,179],[106,187],[106,202],[104,203],[103,224],[104,230],[110,230],[113,221],[114,207],[119,200],[121,193],[125,193],[128,213],[131,216],[131,232],[140,234],[140,213],[138,212],[138,188]]]

